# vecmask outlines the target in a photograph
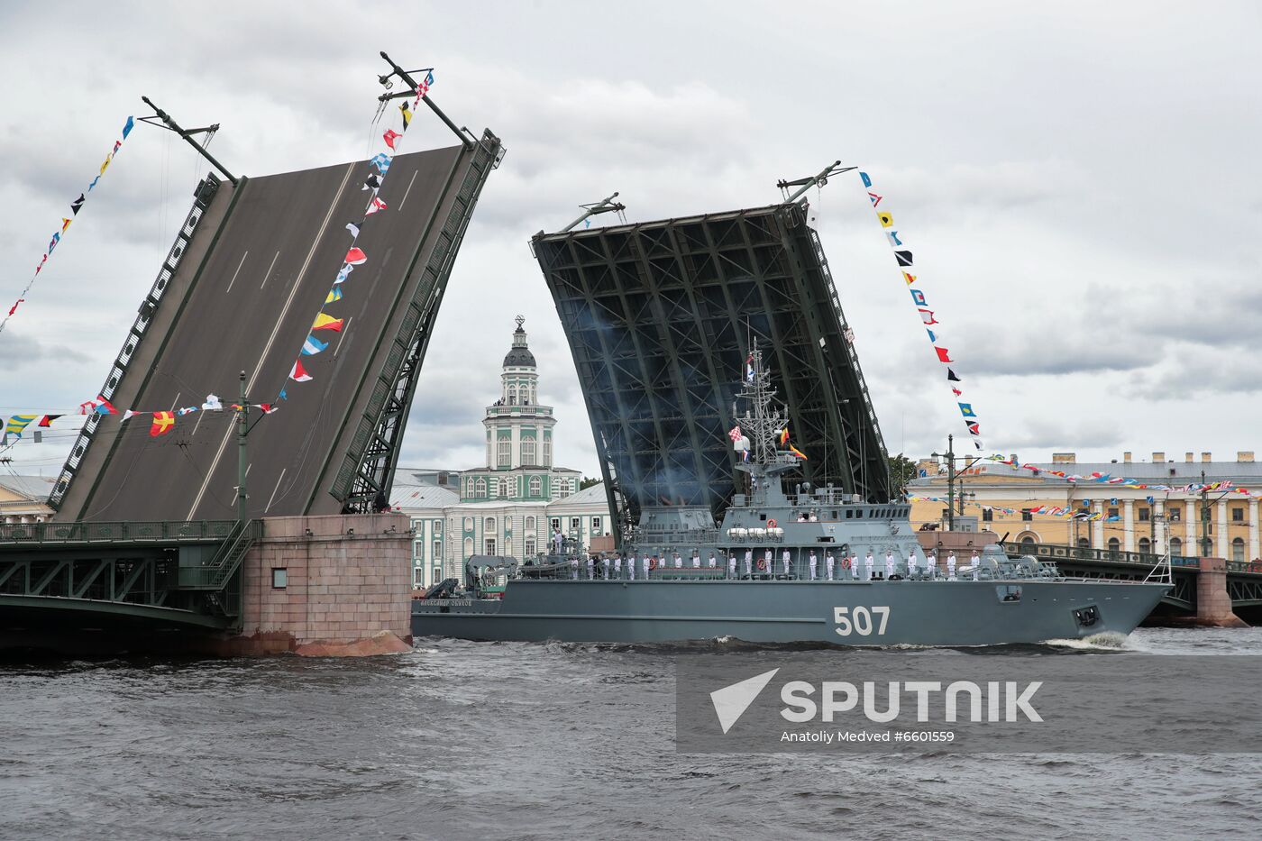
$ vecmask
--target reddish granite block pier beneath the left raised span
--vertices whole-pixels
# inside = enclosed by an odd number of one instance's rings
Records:
[[[404,652],[411,640],[411,534],[403,514],[278,516],[241,568],[228,655]]]

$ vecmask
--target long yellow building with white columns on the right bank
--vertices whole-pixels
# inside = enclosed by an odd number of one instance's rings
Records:
[[[1209,452],[1200,453],[1199,460],[1194,455],[1188,452],[1182,461],[1174,461],[1164,452],[1153,452],[1151,461],[1133,461],[1126,452],[1121,461],[1079,462],[1071,452],[1053,453],[1050,463],[1030,465],[1035,470],[988,460],[970,461],[967,466],[959,462],[955,519],[963,516],[998,538],[1006,535],[1026,544],[1156,554],[1169,548],[1175,556],[1258,559],[1262,546],[1258,498],[1253,494],[1262,494],[1262,463],[1254,462],[1248,451],[1238,452],[1235,461],[1214,461]],[[1011,461],[1017,461],[1016,456]],[[1071,482],[1049,471],[1131,479],[1146,487]],[[907,485],[914,525],[945,528],[949,496],[945,467],[924,460],[917,463],[917,474]],[[1218,482],[1229,484],[1203,496],[1199,486]],[[1203,501],[1208,522],[1201,515]],[[1059,513],[1049,515],[1039,509]]]

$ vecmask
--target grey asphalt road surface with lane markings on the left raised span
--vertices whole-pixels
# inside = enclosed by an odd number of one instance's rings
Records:
[[[303,357],[314,376],[303,384],[286,378],[351,245],[345,226],[363,216],[370,164],[250,178],[235,189],[223,183],[208,210],[221,221],[203,224],[188,249],[204,251],[204,260],[180,264],[173,288],[184,297],[163,299],[170,326],[140,341],[115,405],[177,409],[201,405],[208,393],[228,405],[244,370],[251,403],[280,405],[249,436],[247,516],[341,511],[327,489],[399,328],[409,277],[424,266],[419,258],[433,248],[468,155],[452,146],[394,159],[380,192],[389,208],[367,218],[357,242],[367,263],[327,308],[346,325],[317,333],[329,345]],[[148,370],[138,370],[143,361]],[[276,399],[281,389],[288,400]],[[232,410],[177,418],[158,438],[149,428],[148,417],[105,418],[57,519],[233,518]]]

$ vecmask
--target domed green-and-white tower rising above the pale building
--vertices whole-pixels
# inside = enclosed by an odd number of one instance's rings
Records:
[[[539,403],[539,371],[525,318],[517,316],[512,347],[500,373],[500,399],[486,408],[486,467],[466,471],[463,501],[550,501],[574,492],[569,474],[553,468],[553,407]],[[559,475],[564,474],[564,476]]]

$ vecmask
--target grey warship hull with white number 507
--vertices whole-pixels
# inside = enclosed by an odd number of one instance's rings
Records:
[[[1007,645],[1129,634],[1162,583],[516,580],[502,599],[413,602],[415,636],[573,643]]]

